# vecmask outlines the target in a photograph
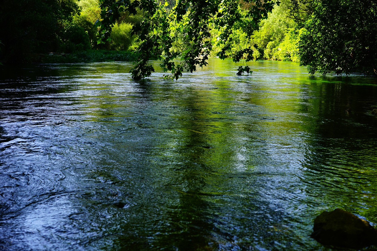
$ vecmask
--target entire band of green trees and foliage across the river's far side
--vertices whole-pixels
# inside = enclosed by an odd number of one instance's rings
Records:
[[[377,1],[5,0],[0,61],[135,60],[132,77],[178,79],[208,57],[299,62],[323,75],[377,76]],[[181,59],[181,63],[173,61]]]

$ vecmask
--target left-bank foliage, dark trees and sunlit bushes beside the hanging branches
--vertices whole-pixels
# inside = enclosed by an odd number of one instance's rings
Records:
[[[18,64],[50,62],[54,58],[57,62],[107,60],[109,55],[105,51],[93,54],[90,50],[127,50],[133,41],[130,35],[132,21],[138,20],[126,20],[129,23],[120,21],[116,24],[118,29],[114,29],[111,42],[99,46],[98,28],[94,23],[100,18],[100,12],[98,0],[0,1],[0,61]],[[87,52],[81,53],[83,51]],[[47,57],[46,54],[52,55]],[[61,54],[72,55],[61,58]],[[114,55],[121,56],[112,58],[129,58],[123,54]]]

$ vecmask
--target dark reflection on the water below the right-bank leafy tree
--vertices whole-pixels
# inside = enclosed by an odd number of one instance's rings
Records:
[[[371,133],[369,129],[375,124],[370,112],[376,106],[377,87],[355,85],[351,80],[348,80],[349,82],[338,82],[331,78],[324,80],[322,83],[314,82],[310,95],[316,98],[305,100],[302,106],[302,109],[306,110],[311,106],[310,111],[316,118],[313,122],[319,125],[318,132],[325,137],[336,138],[360,138],[364,134],[369,135]],[[321,119],[325,120],[325,123]],[[352,122],[355,124],[351,125]],[[363,130],[354,130],[359,126]]]

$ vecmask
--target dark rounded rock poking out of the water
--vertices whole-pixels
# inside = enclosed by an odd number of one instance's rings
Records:
[[[317,216],[311,237],[325,246],[339,248],[360,249],[377,245],[377,230],[366,220],[340,208]]]

